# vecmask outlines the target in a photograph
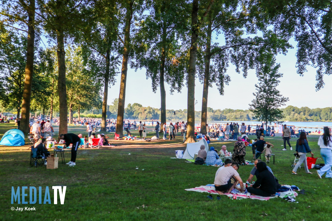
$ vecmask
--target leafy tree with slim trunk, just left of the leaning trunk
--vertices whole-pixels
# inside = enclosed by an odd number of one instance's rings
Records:
[[[102,106],[101,131],[106,131],[106,113],[108,88],[115,84],[115,76],[118,74],[119,42],[117,41],[119,11],[116,1],[98,0],[86,8],[86,16],[83,17],[83,26],[78,32],[78,39],[83,44],[98,53],[103,60],[105,71],[101,76],[96,76],[104,83],[104,95]]]

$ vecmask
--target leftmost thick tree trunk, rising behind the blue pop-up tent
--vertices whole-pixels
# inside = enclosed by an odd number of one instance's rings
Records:
[[[35,56],[35,0],[30,0],[28,12],[28,39],[27,39],[27,63],[25,66],[24,90],[22,99],[22,119],[20,130],[29,133],[30,119],[30,101],[32,89],[32,77],[34,73],[34,56]]]

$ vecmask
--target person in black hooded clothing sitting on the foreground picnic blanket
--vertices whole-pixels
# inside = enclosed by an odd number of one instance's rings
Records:
[[[268,170],[265,162],[257,163],[257,182],[252,186],[248,187],[248,192],[252,195],[259,196],[274,196],[277,192],[276,178]]]

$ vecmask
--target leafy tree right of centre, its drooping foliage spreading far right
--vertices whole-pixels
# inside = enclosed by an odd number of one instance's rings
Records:
[[[269,29],[271,21],[266,20],[266,12],[251,10],[252,8],[256,8],[256,5],[246,5],[242,1],[232,1],[227,4],[218,1],[213,4],[207,16],[205,28],[201,32],[203,40],[200,41],[205,44],[201,46],[205,47],[203,53],[205,64],[198,66],[199,79],[204,83],[202,134],[207,133],[208,87],[215,83],[220,95],[223,95],[224,85],[231,80],[226,74],[229,63],[236,66],[237,73],[242,73],[246,77],[248,69],[254,69],[260,64],[263,53],[286,54],[287,49],[291,47],[287,37],[279,36]],[[223,45],[213,43],[212,33],[215,33],[217,38],[225,38],[225,43]],[[248,35],[257,36],[248,37]]]

